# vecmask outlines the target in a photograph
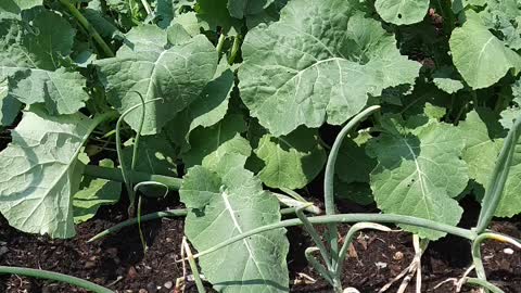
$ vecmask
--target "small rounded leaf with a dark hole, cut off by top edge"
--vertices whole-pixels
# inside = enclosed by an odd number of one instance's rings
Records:
[[[377,0],[374,8],[387,23],[410,25],[425,17],[429,2],[429,0]]]

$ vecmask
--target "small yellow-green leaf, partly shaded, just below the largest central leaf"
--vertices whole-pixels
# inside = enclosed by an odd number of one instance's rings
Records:
[[[326,151],[314,129],[298,128],[285,137],[265,135],[255,150],[265,163],[258,174],[270,188],[300,189],[320,173],[326,163]]]

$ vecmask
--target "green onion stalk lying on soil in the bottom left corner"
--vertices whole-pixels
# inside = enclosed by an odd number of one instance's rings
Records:
[[[96,293],[114,293],[114,291],[112,290],[91,283],[87,280],[82,280],[76,277],[72,277],[72,276],[67,276],[59,272],[41,270],[41,269],[0,266],[0,275],[5,275],[5,273],[34,277],[38,279],[46,279],[46,280],[53,280],[58,282],[68,283],[75,286],[87,289]]]

